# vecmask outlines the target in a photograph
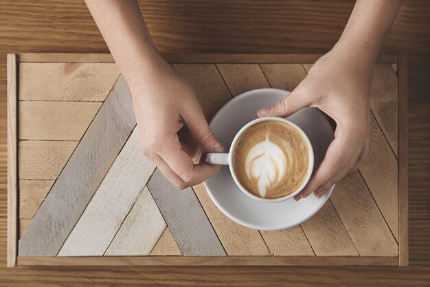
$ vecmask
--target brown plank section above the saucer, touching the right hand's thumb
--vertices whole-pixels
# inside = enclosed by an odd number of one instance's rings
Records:
[[[271,87],[293,91],[306,78],[302,64],[264,64],[260,65]]]

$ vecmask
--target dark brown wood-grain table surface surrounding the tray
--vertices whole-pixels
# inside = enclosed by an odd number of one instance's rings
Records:
[[[142,2],[162,52],[321,53],[353,1]],[[223,5],[222,5],[223,4]],[[269,15],[269,16],[268,16]],[[330,19],[330,20],[328,20]],[[0,3],[0,286],[429,286],[430,3],[405,1],[383,52],[409,54],[409,266],[5,268],[7,52],[107,52],[83,1]]]

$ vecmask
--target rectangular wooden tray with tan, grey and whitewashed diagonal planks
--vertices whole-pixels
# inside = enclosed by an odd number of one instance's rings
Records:
[[[320,55],[165,54],[207,120],[249,89],[293,90]],[[8,266],[407,265],[407,59],[381,55],[372,151],[310,220],[255,231],[139,151],[109,54],[8,55]]]

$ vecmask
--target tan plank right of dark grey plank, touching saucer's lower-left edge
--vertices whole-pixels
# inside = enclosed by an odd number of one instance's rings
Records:
[[[203,184],[193,187],[194,193],[205,213],[215,229],[216,235],[223,244],[225,252],[229,256],[270,256],[260,233],[251,228],[246,228],[225,216],[207,195]]]

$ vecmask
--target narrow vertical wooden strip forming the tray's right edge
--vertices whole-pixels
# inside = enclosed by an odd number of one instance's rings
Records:
[[[399,264],[409,264],[409,195],[408,195],[408,105],[407,105],[407,54],[400,54],[398,59],[398,187],[399,187]]]

